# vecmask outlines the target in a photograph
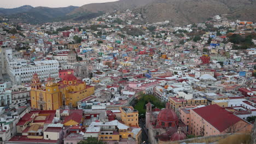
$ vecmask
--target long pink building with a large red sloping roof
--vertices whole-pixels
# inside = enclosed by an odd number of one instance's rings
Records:
[[[191,110],[181,109],[180,112],[181,120],[188,125],[188,133],[196,136],[246,133],[253,127],[217,104]]]

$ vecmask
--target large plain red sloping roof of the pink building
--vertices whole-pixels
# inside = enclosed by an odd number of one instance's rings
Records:
[[[205,119],[205,121],[210,123],[220,132],[231,127],[231,125],[241,121],[241,118],[233,115],[232,113],[223,109],[223,107],[220,107],[217,104],[193,109],[192,111],[196,112],[199,116]]]

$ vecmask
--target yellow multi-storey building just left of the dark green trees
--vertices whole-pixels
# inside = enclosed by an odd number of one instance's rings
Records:
[[[132,106],[120,107],[121,119],[130,127],[138,126],[138,111],[134,110]]]

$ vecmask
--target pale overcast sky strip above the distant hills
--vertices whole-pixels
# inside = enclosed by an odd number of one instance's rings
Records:
[[[31,5],[32,7],[68,7],[69,5],[82,6],[88,3],[104,3],[117,0],[0,0],[0,8],[16,8],[22,5]]]

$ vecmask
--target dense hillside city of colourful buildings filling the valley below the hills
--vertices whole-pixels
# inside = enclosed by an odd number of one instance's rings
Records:
[[[252,21],[0,20],[0,143],[256,142]]]

